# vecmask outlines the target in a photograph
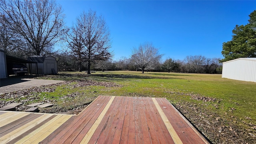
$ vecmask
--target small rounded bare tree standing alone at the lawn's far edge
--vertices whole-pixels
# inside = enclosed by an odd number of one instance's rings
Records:
[[[161,58],[162,54],[158,54],[158,48],[155,48],[150,42],[140,44],[138,49],[134,48],[131,57],[132,62],[142,69],[142,73],[144,73],[145,68],[150,67]]]

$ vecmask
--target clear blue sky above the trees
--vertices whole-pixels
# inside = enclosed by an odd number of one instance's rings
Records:
[[[236,24],[247,24],[256,1],[86,1],[58,0],[67,26],[89,9],[109,27],[113,60],[129,58],[132,48],[152,42],[162,60],[189,55],[223,58],[222,43],[230,41]]]

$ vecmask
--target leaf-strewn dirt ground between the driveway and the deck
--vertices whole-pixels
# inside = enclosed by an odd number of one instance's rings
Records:
[[[54,106],[49,108],[40,108],[40,113],[52,114],[79,114],[88,104],[97,98],[97,96],[84,96],[84,92],[72,92],[65,96],[60,96],[57,99],[46,97],[42,94],[55,92],[57,86],[67,85],[69,89],[82,88],[88,86],[104,86],[104,87],[120,87],[113,82],[96,82],[92,80],[70,80],[62,81],[56,84],[47,86],[32,87],[24,90],[18,90],[0,95],[0,108],[14,102],[22,102],[24,104],[17,107],[18,111],[25,111],[28,104],[41,102],[43,104],[52,103]],[[93,92],[95,93],[95,92]],[[82,97],[79,101],[74,101],[77,97]],[[60,106],[60,102],[62,102]],[[67,103],[65,105],[65,103]],[[64,103],[64,104],[63,104]]]

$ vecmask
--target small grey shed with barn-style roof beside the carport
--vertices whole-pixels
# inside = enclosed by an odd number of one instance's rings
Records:
[[[57,61],[53,56],[32,56],[28,60],[36,62],[36,64],[30,65],[31,74],[56,74],[57,73]],[[28,65],[27,65],[28,67]]]

